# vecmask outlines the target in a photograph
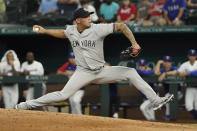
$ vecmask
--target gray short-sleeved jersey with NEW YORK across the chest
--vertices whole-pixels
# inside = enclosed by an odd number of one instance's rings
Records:
[[[104,66],[103,40],[114,32],[114,24],[92,24],[79,33],[76,25],[68,25],[64,31],[71,42],[77,69],[97,70]]]

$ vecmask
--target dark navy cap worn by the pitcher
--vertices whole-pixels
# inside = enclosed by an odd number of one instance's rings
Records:
[[[85,10],[84,8],[76,9],[74,12],[74,20],[76,20],[77,18],[86,18],[93,13],[94,12],[89,12],[89,11]]]

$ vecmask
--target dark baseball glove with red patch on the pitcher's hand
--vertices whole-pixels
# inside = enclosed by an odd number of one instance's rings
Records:
[[[134,49],[132,47],[128,47],[126,50],[123,50],[120,53],[120,60],[121,61],[131,60],[134,57],[138,56],[140,52],[141,52],[141,49]]]

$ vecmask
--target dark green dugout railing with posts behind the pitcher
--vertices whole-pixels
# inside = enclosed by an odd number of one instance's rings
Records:
[[[157,83],[157,76],[148,76],[143,77],[147,82]],[[33,83],[35,85],[35,98],[38,98],[42,95],[42,83],[47,84],[65,84],[68,81],[68,78],[61,75],[49,75],[49,76],[0,76],[0,84],[11,84],[11,83]],[[196,87],[197,78],[196,77],[186,77],[180,78],[178,76],[167,76],[164,83],[170,84],[170,93],[174,94],[175,98],[170,102],[170,119],[177,119],[177,110],[178,110],[178,101],[177,101],[177,92],[178,85],[180,83],[187,83]],[[121,86],[130,85],[128,82],[119,82]],[[110,114],[110,96],[109,96],[109,87],[108,84],[100,85],[101,93],[101,116],[109,116]]]

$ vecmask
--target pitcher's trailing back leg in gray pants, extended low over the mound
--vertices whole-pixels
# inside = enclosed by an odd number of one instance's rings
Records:
[[[94,74],[77,70],[61,91],[48,93],[38,99],[22,102],[16,105],[16,109],[27,110],[39,106],[44,106],[52,102],[66,100],[70,96],[72,96],[77,90],[89,84],[94,78]]]

